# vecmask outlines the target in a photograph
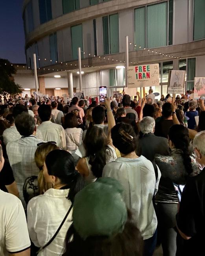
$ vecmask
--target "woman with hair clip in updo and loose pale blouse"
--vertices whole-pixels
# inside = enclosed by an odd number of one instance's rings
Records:
[[[103,177],[118,180],[124,188],[124,201],[133,213],[133,220],[142,232],[144,255],[153,255],[157,242],[157,217],[153,196],[157,192],[161,173],[144,156],[137,156],[137,136],[131,125],[123,122],[111,130],[113,145],[121,157],[105,165]],[[157,180],[156,180],[157,177]]]

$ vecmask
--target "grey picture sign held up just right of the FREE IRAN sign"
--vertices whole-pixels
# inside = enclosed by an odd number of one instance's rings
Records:
[[[169,70],[167,93],[184,93],[185,75],[184,70]]]

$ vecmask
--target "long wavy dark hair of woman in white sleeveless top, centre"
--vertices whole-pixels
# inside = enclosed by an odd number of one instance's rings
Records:
[[[106,165],[106,150],[110,150],[103,129],[90,124],[85,135],[84,145],[92,173],[96,178],[102,177],[102,171]],[[109,153],[112,154],[111,150]]]

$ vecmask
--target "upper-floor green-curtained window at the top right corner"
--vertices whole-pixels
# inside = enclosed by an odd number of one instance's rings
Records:
[[[194,40],[205,38],[205,1],[194,0]]]

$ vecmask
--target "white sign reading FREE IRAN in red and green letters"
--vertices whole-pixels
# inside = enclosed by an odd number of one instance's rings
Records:
[[[128,88],[158,86],[159,64],[148,64],[127,68]]]

